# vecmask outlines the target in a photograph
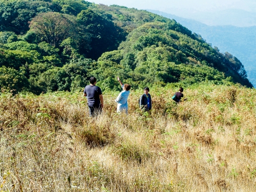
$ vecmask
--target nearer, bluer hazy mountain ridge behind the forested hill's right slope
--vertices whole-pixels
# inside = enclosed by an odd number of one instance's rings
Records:
[[[256,87],[256,26],[208,26],[193,19],[182,18],[173,14],[156,10],[150,12],[175,19],[181,25],[192,32],[200,34],[212,46],[216,46],[221,52],[229,52],[236,56],[244,65],[248,79]]]

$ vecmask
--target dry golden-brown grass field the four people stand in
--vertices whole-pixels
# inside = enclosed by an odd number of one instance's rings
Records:
[[[0,95],[0,191],[256,191],[256,91],[202,85],[151,114],[117,115],[104,94],[89,118],[81,93]]]

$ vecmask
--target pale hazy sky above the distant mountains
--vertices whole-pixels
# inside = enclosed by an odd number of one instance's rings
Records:
[[[225,9],[256,12],[255,0],[89,0],[89,2],[152,9],[187,18],[196,12],[218,12]]]

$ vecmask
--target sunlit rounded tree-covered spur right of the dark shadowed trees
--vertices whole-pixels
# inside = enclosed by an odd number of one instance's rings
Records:
[[[173,26],[175,25],[173,24]],[[165,31],[162,30],[163,28]],[[140,73],[147,71],[147,74],[152,74],[150,72],[151,68],[152,72],[156,72],[159,69],[161,73],[164,73],[166,67],[164,69],[160,66],[166,65],[166,62],[174,62],[176,65],[180,65],[181,63],[189,64],[193,68],[199,68],[199,73],[205,73],[200,68],[206,65],[222,72],[233,70],[238,76],[234,77],[233,80],[246,83],[247,86],[250,86],[250,83],[246,82],[246,72],[238,59],[230,55],[227,58],[227,56],[213,49],[204,40],[198,39],[197,36],[190,34],[189,31],[187,32],[185,30],[184,33],[180,33],[172,29],[166,30],[166,25],[163,23],[155,22],[153,24],[148,23],[142,25],[129,34],[127,40],[122,42],[119,49],[123,50],[123,58],[127,54],[132,53],[134,55],[134,60],[136,61],[135,71]],[[122,62],[123,60],[120,61],[120,63]],[[172,74],[171,72],[166,73]],[[205,77],[205,80],[216,79],[214,74],[210,75],[211,77],[209,75],[207,75],[207,78]],[[176,74],[175,78],[182,80],[179,76]],[[165,78],[163,81],[169,81],[169,78]]]

